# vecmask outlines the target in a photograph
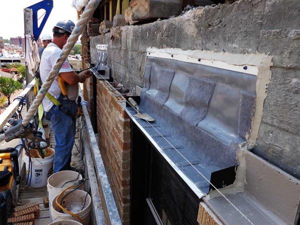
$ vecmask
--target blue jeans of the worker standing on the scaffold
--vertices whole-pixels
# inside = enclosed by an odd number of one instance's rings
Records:
[[[73,116],[63,112],[67,110]],[[76,102],[69,100],[62,100],[60,106],[53,105],[50,111],[45,113],[46,119],[51,121],[51,128],[54,131],[56,141],[53,172],[66,170],[70,167],[76,129],[76,113]]]

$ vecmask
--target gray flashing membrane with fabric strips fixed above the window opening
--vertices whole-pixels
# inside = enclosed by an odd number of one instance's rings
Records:
[[[144,82],[140,112],[155,121],[136,121],[183,174],[208,193],[211,173],[237,164],[238,145],[250,131],[256,76],[148,56]],[[126,109],[132,118],[135,110]]]

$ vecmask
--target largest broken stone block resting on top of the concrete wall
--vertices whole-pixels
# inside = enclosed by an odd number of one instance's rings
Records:
[[[126,22],[167,18],[180,13],[180,0],[131,0],[125,10]]]

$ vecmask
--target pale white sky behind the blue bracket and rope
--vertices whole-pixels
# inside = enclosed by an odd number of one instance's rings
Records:
[[[41,0],[0,0],[0,36],[24,36],[23,9]],[[72,0],[53,0],[53,8],[41,32],[52,35],[52,28],[58,20],[77,20],[76,9],[71,6]],[[42,13],[41,13],[42,14]],[[40,35],[40,36],[41,36]]]

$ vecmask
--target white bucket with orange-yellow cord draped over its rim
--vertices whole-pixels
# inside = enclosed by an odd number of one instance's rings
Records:
[[[58,199],[62,199],[64,195],[66,195],[68,192],[72,190],[67,190],[65,191]],[[84,204],[84,199],[86,196],[85,200],[85,205],[84,208],[81,210]],[[51,216],[52,220],[55,219],[55,221],[62,220],[62,219],[72,219],[76,220],[78,222],[81,222],[78,218],[73,217],[70,214],[60,212],[62,211],[57,205],[56,205],[56,198],[58,197],[58,194],[53,198],[52,200],[52,207],[51,207]],[[64,199],[63,202],[61,203],[63,207],[65,207],[67,210],[73,212],[74,214],[80,216],[82,220],[84,221],[84,224],[89,223],[89,218],[90,218],[90,209],[91,209],[91,198],[89,194],[86,195],[86,192],[84,190],[74,190],[71,193],[69,193]]]

